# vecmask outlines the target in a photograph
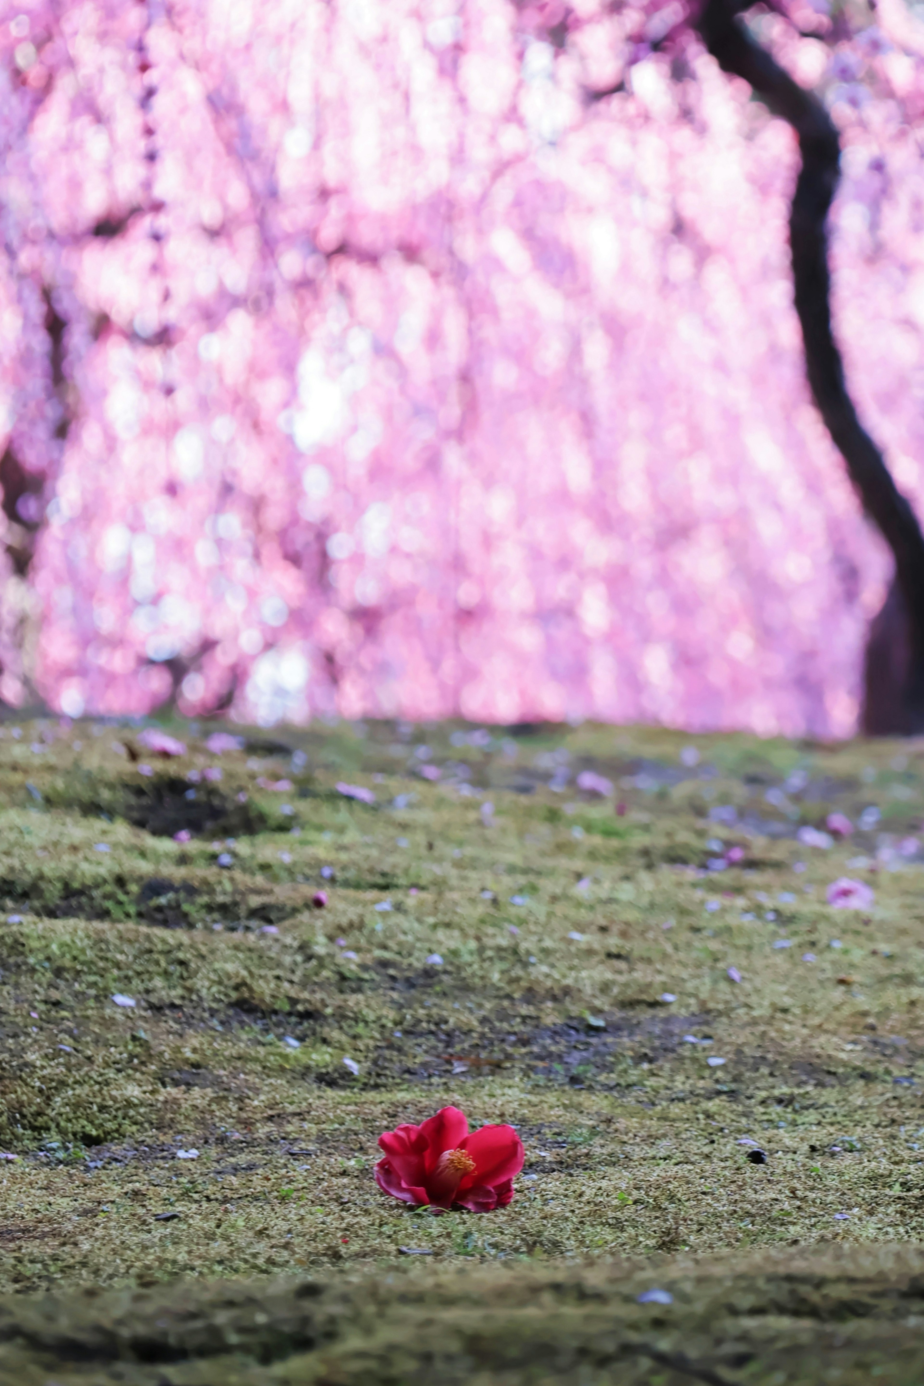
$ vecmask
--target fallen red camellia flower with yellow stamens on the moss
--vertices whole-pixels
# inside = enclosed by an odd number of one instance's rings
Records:
[[[379,1137],[384,1159],[376,1164],[383,1193],[404,1203],[454,1203],[469,1213],[502,1209],[513,1198],[513,1175],[523,1168],[523,1142],[506,1125],[469,1135],[465,1112],[443,1107],[422,1125],[401,1125]]]

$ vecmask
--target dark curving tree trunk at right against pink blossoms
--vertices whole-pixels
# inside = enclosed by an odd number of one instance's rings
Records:
[[[827,218],[839,177],[838,132],[820,101],[748,35],[737,0],[706,0],[696,25],[724,72],[744,78],[799,139],[802,168],[789,215],[795,308],[812,395],[863,509],[895,559],[895,590],[870,632],[864,730],[924,732],[924,535],[882,453],[857,419],[831,331]],[[887,643],[895,639],[895,644]],[[873,667],[873,660],[877,660]]]

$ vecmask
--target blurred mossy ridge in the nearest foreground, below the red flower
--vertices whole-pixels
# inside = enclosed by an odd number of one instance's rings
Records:
[[[180,1283],[0,1301],[0,1383],[918,1386],[923,1317],[907,1247]]]

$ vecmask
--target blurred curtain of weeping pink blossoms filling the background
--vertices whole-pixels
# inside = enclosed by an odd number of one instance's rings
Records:
[[[713,7],[0,14],[3,699],[855,726],[889,554]],[[917,22],[726,18],[839,133],[835,334],[916,503]]]

